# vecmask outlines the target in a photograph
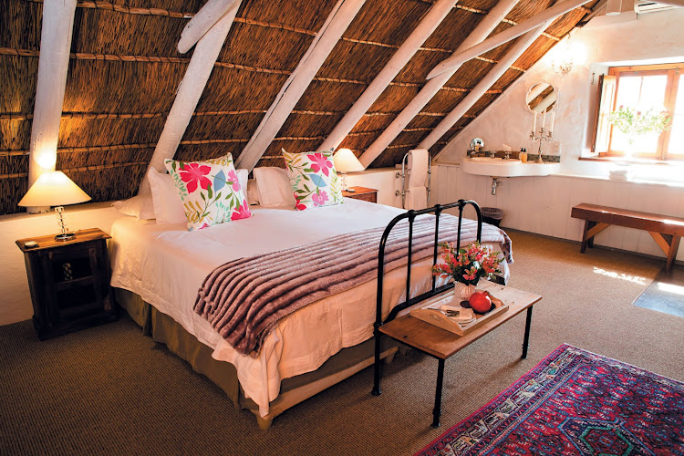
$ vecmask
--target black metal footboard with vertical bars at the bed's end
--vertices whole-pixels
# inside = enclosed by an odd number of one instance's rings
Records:
[[[447,285],[442,285],[442,286],[436,286],[436,278],[432,277],[432,286],[430,288],[430,291],[423,293],[422,295],[418,295],[415,297],[410,297],[410,285],[411,285],[411,262],[412,262],[412,247],[413,247],[413,222],[416,219],[417,216],[423,215],[423,214],[428,214],[428,213],[434,213],[435,214],[435,242],[434,242],[434,248],[432,252],[432,264],[437,264],[437,250],[438,246],[437,243],[439,242],[439,236],[440,236],[440,214],[446,209],[451,209],[458,207],[459,208],[459,228],[458,228],[458,233],[456,233],[456,247],[460,248],[461,247],[461,221],[463,218],[463,209],[465,208],[466,205],[471,204],[473,208],[475,208],[475,212],[477,212],[477,240],[480,242],[482,238],[482,212],[480,212],[480,206],[478,206],[477,202],[470,201],[470,200],[459,200],[457,202],[451,202],[449,204],[436,204],[434,207],[430,207],[427,209],[421,209],[420,211],[414,211],[410,210],[408,212],[402,213],[395,217],[391,222],[389,222],[387,228],[385,228],[385,232],[382,233],[382,237],[380,238],[380,246],[378,249],[378,296],[377,296],[377,307],[376,307],[376,317],[375,317],[375,324],[373,325],[373,335],[375,336],[375,372],[374,372],[374,386],[373,386],[373,391],[372,394],[374,396],[379,396],[380,394],[380,388],[379,388],[379,380],[380,380],[380,337],[382,333],[380,333],[380,326],[384,325],[385,323],[388,323],[389,321],[392,321],[402,310],[409,308],[410,306],[413,306],[415,304],[420,303],[420,301],[423,301],[425,299],[430,298],[431,296],[438,295],[450,288],[453,287],[453,283],[449,283]],[[392,228],[394,226],[401,222],[404,219],[409,219],[409,253],[407,257],[407,270],[406,270],[406,301],[403,303],[400,303],[398,306],[394,307],[390,312],[389,316],[385,318],[385,320],[382,319],[382,291],[383,291],[383,281],[384,281],[384,275],[385,275],[385,245],[387,244],[387,240],[389,238],[389,233],[391,233]]]

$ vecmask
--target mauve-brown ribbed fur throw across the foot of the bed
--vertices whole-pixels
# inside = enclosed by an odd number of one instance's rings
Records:
[[[194,311],[206,318],[239,353],[256,356],[280,318],[329,295],[378,276],[378,245],[385,227],[241,258],[217,267],[204,279]],[[440,216],[440,242],[456,242],[458,218]],[[463,219],[461,245],[477,236],[477,223]],[[409,223],[392,230],[385,248],[385,270],[407,262]],[[413,259],[432,254],[434,216],[413,226]],[[482,224],[482,243],[500,243],[513,263],[511,240],[499,228]]]

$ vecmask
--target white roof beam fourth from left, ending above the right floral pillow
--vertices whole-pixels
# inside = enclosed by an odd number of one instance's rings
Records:
[[[449,15],[451,9],[457,3],[458,0],[440,0],[432,5],[430,11],[420,20],[420,24],[413,30],[401,47],[397,49],[397,52],[389,59],[387,65],[382,68],[378,76],[373,79],[373,82],[364,90],[354,105],[349,108],[345,117],[337,123],[335,129],[327,136],[318,150],[328,150],[339,146],[340,142],[357,125],[358,120],[366,114],[385,88],[388,88],[389,83],[399,74],[401,68],[409,63],[411,57],[416,54],[418,49],[425,43],[425,40],[432,35],[432,32]]]

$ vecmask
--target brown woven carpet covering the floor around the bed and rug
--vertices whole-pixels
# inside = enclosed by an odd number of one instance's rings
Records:
[[[368,368],[262,431],[128,318],[46,342],[22,322],[0,326],[0,454],[412,454],[563,342],[684,380],[684,318],[630,305],[664,262],[511,237],[510,285],[544,295],[529,356],[521,315],[451,358],[440,430],[437,361],[416,353],[385,368],[380,397]]]

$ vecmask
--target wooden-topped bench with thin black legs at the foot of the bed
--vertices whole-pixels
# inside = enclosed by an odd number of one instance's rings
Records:
[[[478,289],[486,290],[493,296],[501,299],[509,308],[501,315],[493,317],[487,323],[479,326],[463,336],[457,336],[446,329],[439,326],[430,325],[414,316],[405,315],[390,321],[379,327],[380,333],[392,337],[399,342],[416,348],[432,358],[437,358],[439,361],[437,369],[437,388],[435,390],[435,407],[432,409],[432,427],[438,428],[440,426],[441,416],[441,389],[444,380],[444,361],[455,355],[461,348],[468,347],[472,342],[484,336],[488,332],[503,325],[513,316],[516,316],[527,310],[527,319],[525,322],[525,332],[523,337],[523,355],[521,358],[527,358],[527,347],[530,340],[530,326],[532,324],[532,306],[542,299],[540,295],[534,295],[521,290],[516,290],[510,286],[503,286],[493,284],[489,281],[481,281],[478,284]],[[450,292],[447,292],[450,293]],[[424,302],[424,306],[429,306],[431,302],[436,302],[442,299],[444,295],[434,296]],[[379,364],[375,366],[375,385],[373,386],[373,395],[378,396],[380,391],[380,375]]]

